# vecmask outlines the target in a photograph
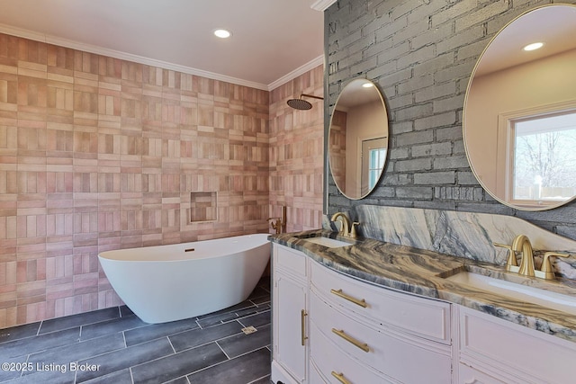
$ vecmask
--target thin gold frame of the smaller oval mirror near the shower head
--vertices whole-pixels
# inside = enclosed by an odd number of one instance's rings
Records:
[[[342,188],[341,186],[341,180],[340,183],[338,183],[337,177],[335,177],[334,171],[332,169],[332,164],[333,162],[331,161],[332,155],[331,155],[331,148],[330,148],[330,132],[332,131],[332,126],[333,126],[333,121],[334,121],[334,116],[336,114],[336,111],[338,109],[338,103],[340,103],[343,99],[342,99],[342,95],[345,94],[345,92],[350,89],[352,89],[352,85],[355,83],[369,83],[372,84],[373,86],[371,87],[373,89],[372,92],[374,92],[375,94],[378,95],[378,99],[376,99],[374,97],[374,102],[376,102],[377,100],[380,100],[380,103],[382,103],[382,108],[383,108],[383,114],[386,116],[386,118],[383,121],[383,133],[385,134],[385,141],[386,141],[386,156],[384,157],[384,163],[383,163],[383,168],[380,171],[380,174],[378,175],[378,178],[376,180],[376,183],[374,183],[374,186],[372,188],[370,188],[367,192],[365,193],[361,193],[359,196],[356,195],[351,195],[350,193],[346,193],[344,192],[346,190],[346,188]],[[328,150],[327,150],[327,158],[328,158],[328,162],[329,162],[329,171],[330,174],[332,175],[332,179],[334,180],[334,183],[336,184],[336,187],[338,188],[338,191],[340,193],[342,193],[347,199],[350,200],[361,200],[364,199],[366,196],[368,196],[371,192],[374,191],[374,189],[376,188],[376,186],[380,183],[383,174],[384,174],[384,170],[386,169],[386,165],[388,163],[388,157],[389,157],[389,152],[390,152],[390,129],[389,129],[389,116],[388,116],[388,108],[386,107],[386,103],[384,102],[384,98],[383,98],[383,93],[380,91],[378,85],[376,85],[373,81],[366,79],[365,77],[356,77],[352,80],[350,80],[347,85],[344,86],[344,88],[342,88],[342,91],[340,91],[340,94],[338,94],[338,99],[336,101],[336,103],[334,104],[334,107],[332,109],[332,113],[330,115],[330,122],[329,122],[329,129],[328,129],[328,138],[327,138],[327,145],[328,145]],[[341,179],[341,178],[340,178]],[[346,180],[345,180],[346,183]]]

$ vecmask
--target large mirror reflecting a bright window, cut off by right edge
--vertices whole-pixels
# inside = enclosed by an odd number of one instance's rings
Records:
[[[576,6],[510,22],[482,53],[464,102],[464,147],[496,200],[549,210],[576,196]]]

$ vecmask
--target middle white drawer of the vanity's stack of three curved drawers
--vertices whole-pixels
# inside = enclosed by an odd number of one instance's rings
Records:
[[[450,382],[452,357],[448,346],[366,326],[332,308],[314,293],[310,296],[309,310],[311,328],[317,330],[311,329],[312,353],[321,334],[354,362],[362,362],[394,380],[407,383]]]

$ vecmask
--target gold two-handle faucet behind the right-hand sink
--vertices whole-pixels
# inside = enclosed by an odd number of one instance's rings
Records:
[[[536,270],[534,267],[534,251],[532,249],[532,244],[526,235],[518,235],[514,237],[512,246],[507,246],[504,244],[494,243],[494,246],[501,246],[509,250],[508,260],[506,261],[506,270],[509,272],[516,272],[523,276],[538,277],[541,279],[552,280],[556,276],[552,268],[552,263],[550,263],[550,256],[559,257],[569,257],[570,254],[563,254],[558,252],[546,252],[544,254],[544,259],[542,260],[542,266],[540,271]],[[520,252],[522,254],[522,260],[518,266],[516,260],[516,253]]]

